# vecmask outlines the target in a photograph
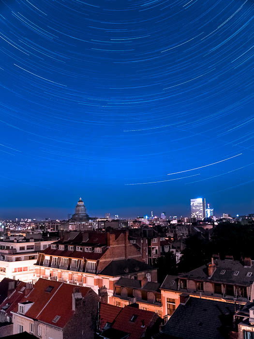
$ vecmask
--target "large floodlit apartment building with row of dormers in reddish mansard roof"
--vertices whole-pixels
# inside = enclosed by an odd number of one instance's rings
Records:
[[[142,260],[128,240],[128,231],[66,232],[41,254],[35,277],[92,288],[105,286],[109,300],[120,277],[157,281],[157,270]]]

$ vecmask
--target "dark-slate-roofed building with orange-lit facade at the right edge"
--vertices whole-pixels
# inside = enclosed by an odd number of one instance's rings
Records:
[[[203,265],[179,276],[168,275],[161,286],[163,314],[179,306],[179,296],[245,304],[254,300],[254,262],[250,258],[239,262],[212,258]]]

